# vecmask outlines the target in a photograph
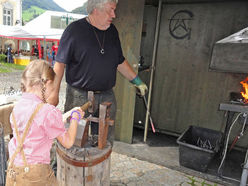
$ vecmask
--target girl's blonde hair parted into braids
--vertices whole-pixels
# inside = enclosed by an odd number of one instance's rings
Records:
[[[55,72],[51,65],[45,60],[33,60],[31,61],[24,72],[22,73],[21,91],[26,92],[27,87],[33,87],[34,85],[40,85],[42,90],[43,101],[45,102],[45,83],[48,80],[54,80]]]

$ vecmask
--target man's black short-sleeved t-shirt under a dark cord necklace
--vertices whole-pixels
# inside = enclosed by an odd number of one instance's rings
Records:
[[[101,45],[104,41],[104,54],[100,53],[98,40]],[[117,66],[124,60],[115,26],[111,24],[102,31],[85,18],[66,28],[56,56],[57,62],[66,64],[66,82],[87,91],[109,90],[115,86]]]

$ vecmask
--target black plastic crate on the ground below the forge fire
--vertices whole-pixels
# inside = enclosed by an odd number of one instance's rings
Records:
[[[206,172],[209,163],[220,149],[221,138],[221,132],[189,126],[177,139],[180,165]]]

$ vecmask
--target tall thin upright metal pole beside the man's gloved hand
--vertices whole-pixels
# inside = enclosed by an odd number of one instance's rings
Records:
[[[148,118],[149,118],[149,111],[150,111],[150,104],[151,104],[153,76],[154,76],[156,57],[157,57],[158,36],[159,36],[159,29],[160,29],[161,13],[162,13],[162,0],[159,0],[158,13],[157,13],[157,22],[156,22],[156,28],[155,28],[155,40],[154,40],[153,55],[152,55],[151,78],[150,78],[149,92],[148,92],[148,104],[147,104],[147,110],[146,110],[144,142],[146,142],[146,139],[147,139]]]

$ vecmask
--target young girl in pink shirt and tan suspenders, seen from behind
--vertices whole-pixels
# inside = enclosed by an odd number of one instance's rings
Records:
[[[71,111],[70,127],[65,129],[61,112],[47,103],[55,73],[48,62],[32,61],[22,74],[22,98],[10,116],[13,138],[9,142],[6,186],[54,186],[50,149],[56,138],[70,148],[75,141],[78,121],[84,112]]]

